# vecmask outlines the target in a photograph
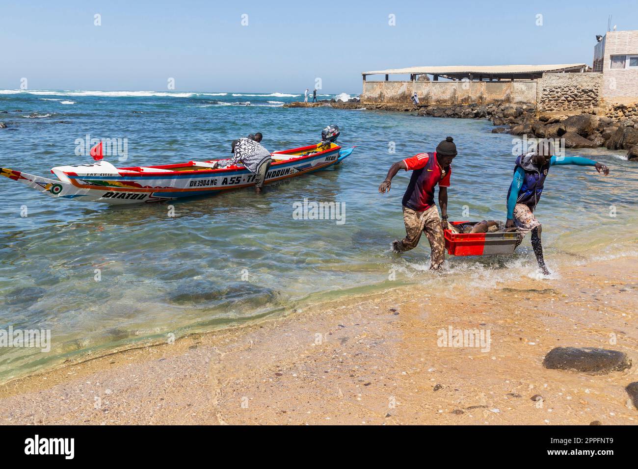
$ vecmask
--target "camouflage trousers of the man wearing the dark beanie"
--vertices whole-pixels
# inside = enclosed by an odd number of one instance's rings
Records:
[[[406,236],[394,244],[394,249],[397,252],[404,252],[416,248],[421,234],[425,233],[432,249],[431,267],[433,269],[441,267],[445,261],[445,239],[436,205],[422,212],[403,207],[403,223]]]

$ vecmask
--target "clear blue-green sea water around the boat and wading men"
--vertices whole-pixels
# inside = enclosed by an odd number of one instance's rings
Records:
[[[331,98],[334,95],[319,96]],[[401,197],[377,188],[394,161],[433,151],[454,137],[450,220],[505,218],[515,157],[512,136],[489,121],[416,117],[405,112],[283,108],[294,93],[0,91],[0,165],[50,176],[51,167],[90,163],[76,139],[126,138],[138,166],[227,157],[230,142],[261,131],[271,151],[320,140],[338,124],[339,143],[357,145],[341,167],[289,179],[257,196],[130,207],[55,200],[0,180],[0,329],[45,329],[50,352],[0,347],[0,380],[66,359],[192,331],[261,320],[308,302],[380,288],[499,288],[538,278],[529,240],[512,256],[449,257],[429,267],[429,246],[401,256]],[[247,103],[250,105],[246,105]],[[554,167],[538,205],[545,258],[558,279],[574,264],[635,255],[638,165],[626,152],[567,151],[605,163]],[[295,220],[295,202],[336,202],[339,220]],[[169,216],[170,211],[174,216]],[[26,215],[26,216],[23,216]],[[100,272],[97,277],[96,269]],[[551,281],[551,280],[550,280]],[[301,313],[302,314],[302,313]]]

